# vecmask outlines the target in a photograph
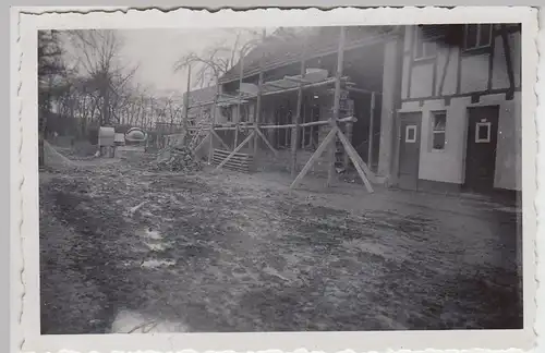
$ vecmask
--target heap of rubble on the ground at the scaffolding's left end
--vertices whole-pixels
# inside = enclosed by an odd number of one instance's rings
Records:
[[[185,146],[169,146],[159,151],[155,170],[165,170],[173,172],[198,171],[203,168],[203,163],[195,157],[193,151]]]

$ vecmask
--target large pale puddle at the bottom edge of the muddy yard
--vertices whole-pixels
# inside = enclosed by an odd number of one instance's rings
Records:
[[[130,311],[119,312],[111,325],[110,333],[164,333],[189,332],[183,322],[164,320]]]

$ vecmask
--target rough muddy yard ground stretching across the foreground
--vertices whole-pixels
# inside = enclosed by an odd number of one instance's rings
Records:
[[[43,333],[520,328],[520,214],[489,200],[289,175],[152,172],[147,160],[40,172]],[[358,192],[354,190],[358,188]]]

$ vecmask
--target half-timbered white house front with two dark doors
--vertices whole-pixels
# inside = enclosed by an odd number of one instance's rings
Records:
[[[407,26],[399,58],[397,117],[380,144],[392,146],[390,184],[520,191],[520,26]]]

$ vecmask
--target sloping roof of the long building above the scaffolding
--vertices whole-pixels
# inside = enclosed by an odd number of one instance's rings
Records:
[[[346,49],[362,47],[383,41],[395,33],[396,26],[350,26],[347,27]],[[264,44],[255,47],[244,57],[244,77],[259,72],[259,61],[264,56],[264,71],[281,68],[301,60],[306,41],[307,59],[327,56],[337,51],[339,39],[338,26],[311,27],[299,32],[286,32],[280,28],[268,36]],[[220,84],[237,81],[240,76],[239,61],[219,80]]]

